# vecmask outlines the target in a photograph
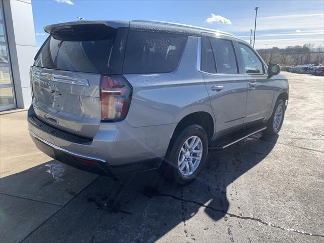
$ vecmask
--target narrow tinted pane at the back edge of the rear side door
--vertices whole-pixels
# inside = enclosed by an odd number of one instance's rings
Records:
[[[214,54],[209,38],[201,39],[201,71],[216,73]]]

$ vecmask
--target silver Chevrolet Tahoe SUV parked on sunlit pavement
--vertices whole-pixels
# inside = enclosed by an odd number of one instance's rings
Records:
[[[159,168],[185,184],[209,149],[281,128],[287,79],[232,34],[144,20],[45,31],[28,127],[62,163],[104,175]]]

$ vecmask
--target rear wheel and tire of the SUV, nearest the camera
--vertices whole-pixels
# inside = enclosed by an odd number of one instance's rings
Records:
[[[193,149],[192,151],[200,151],[200,148],[202,151],[199,153],[193,152],[192,156],[190,156],[189,154],[191,152],[189,149],[186,151],[188,146],[185,145],[185,142],[187,142],[188,145],[190,145],[192,142],[194,142],[194,145],[197,143],[196,147],[191,147],[191,149]],[[159,172],[167,181],[171,183],[176,182],[180,185],[188,184],[195,180],[200,173],[206,162],[207,153],[208,137],[205,130],[199,125],[189,125],[183,129],[180,134],[178,133],[172,138],[163,164],[159,168]],[[200,160],[198,161],[194,157],[200,157]],[[197,162],[198,164],[196,165]],[[183,167],[182,171],[180,167]]]

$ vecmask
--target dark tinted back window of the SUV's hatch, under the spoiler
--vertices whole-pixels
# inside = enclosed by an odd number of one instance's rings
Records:
[[[79,72],[102,73],[115,36],[114,30],[69,32],[51,35],[35,59],[35,66]]]

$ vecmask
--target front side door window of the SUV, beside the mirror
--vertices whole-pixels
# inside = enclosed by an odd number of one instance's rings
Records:
[[[238,43],[246,73],[263,73],[263,65],[257,55],[246,45]]]

